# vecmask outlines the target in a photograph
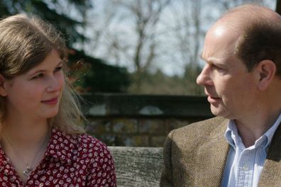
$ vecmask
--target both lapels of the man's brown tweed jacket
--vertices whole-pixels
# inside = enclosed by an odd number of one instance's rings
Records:
[[[229,120],[223,120],[210,134],[198,151],[198,159],[204,164],[199,168],[196,176],[197,186],[221,186],[224,175],[229,144],[226,142],[224,132]],[[207,156],[207,157],[206,157]],[[258,186],[281,186],[281,124],[272,137],[268,155],[265,159],[263,171]]]

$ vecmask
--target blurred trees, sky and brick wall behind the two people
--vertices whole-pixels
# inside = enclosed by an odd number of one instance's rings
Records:
[[[245,3],[281,8],[275,0],[0,0],[0,16],[36,14],[62,32],[90,135],[162,147],[171,130],[213,117],[195,82],[204,35]]]

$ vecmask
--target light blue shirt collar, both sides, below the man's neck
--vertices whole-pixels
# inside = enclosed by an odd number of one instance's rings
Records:
[[[258,140],[256,140],[255,143],[257,143],[259,140],[265,139],[265,141],[266,141],[265,147],[268,147],[268,145],[270,145],[272,137],[273,137],[276,129],[280,125],[280,123],[281,123],[281,113],[278,116],[275,123],[271,126],[271,128],[269,130],[267,130],[265,132],[265,134],[263,134]],[[238,146],[238,144],[240,144],[242,142],[240,135],[238,135],[238,130],[236,128],[236,123],[234,120],[229,120],[224,136],[226,137],[226,141],[233,148],[235,148],[236,146]]]

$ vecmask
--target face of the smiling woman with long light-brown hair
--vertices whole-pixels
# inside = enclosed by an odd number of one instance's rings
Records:
[[[47,119],[57,115],[65,84],[62,60],[56,50],[28,72],[4,79],[0,88],[6,97],[7,118]]]

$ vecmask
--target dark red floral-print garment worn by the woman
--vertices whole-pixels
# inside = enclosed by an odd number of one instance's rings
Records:
[[[0,147],[0,186],[23,186]],[[26,187],[116,186],[114,161],[103,142],[89,135],[66,135],[52,129],[45,157],[28,177]]]

